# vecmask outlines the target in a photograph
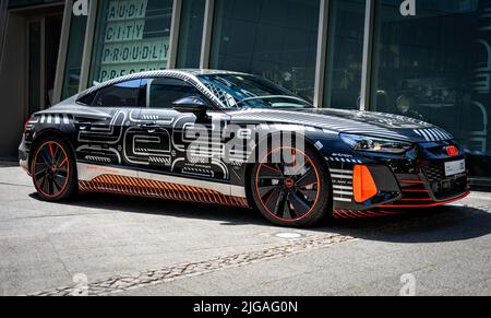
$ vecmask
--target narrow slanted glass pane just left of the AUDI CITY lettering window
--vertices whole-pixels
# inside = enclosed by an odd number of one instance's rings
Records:
[[[82,67],[82,55],[80,52],[84,50],[86,26],[87,16],[71,16],[61,99],[65,99],[79,93],[80,74]]]

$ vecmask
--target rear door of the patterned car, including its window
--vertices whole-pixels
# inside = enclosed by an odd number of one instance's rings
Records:
[[[125,134],[140,116],[141,80],[116,83],[84,96],[87,109],[75,116],[79,161],[93,165],[133,166],[128,161]]]

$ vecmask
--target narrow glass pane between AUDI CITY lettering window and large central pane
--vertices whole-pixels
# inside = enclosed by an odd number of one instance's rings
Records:
[[[205,0],[183,0],[179,27],[177,68],[199,68]]]

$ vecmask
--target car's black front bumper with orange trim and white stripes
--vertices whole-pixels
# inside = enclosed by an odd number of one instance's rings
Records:
[[[432,145],[434,146],[434,145]],[[445,176],[445,162],[464,160],[460,156],[431,157],[421,151],[409,157],[357,157],[357,163],[330,162],[335,215],[379,216],[405,210],[432,208],[464,199],[470,193],[467,173]],[[355,180],[355,167],[368,167],[376,195],[360,202]],[[342,216],[342,217],[343,217]]]

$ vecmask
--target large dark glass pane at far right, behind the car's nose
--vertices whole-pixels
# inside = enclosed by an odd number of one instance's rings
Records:
[[[491,1],[378,1],[371,110],[439,125],[469,151],[474,176],[491,177]]]

